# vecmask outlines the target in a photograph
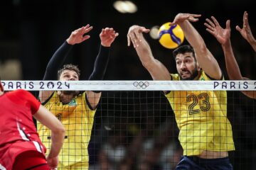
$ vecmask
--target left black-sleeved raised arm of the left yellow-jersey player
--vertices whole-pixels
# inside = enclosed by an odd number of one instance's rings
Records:
[[[53,54],[53,57],[50,58],[43,80],[57,79],[58,69],[62,67],[63,63],[65,62],[65,58],[68,56],[68,53],[72,49],[73,45],[81,43],[90,38],[90,35],[85,35],[85,33],[88,33],[90,30],[92,30],[92,26],[87,24],[87,26],[78,28],[71,33],[70,37],[65,40],[63,45],[61,45]],[[46,101],[51,94],[53,94],[53,91],[39,91],[39,100],[41,103]]]

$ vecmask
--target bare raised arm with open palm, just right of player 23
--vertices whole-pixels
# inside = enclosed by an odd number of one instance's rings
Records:
[[[230,41],[230,21],[228,20],[226,22],[226,28],[222,28],[213,16],[211,17],[211,19],[213,21],[210,21],[210,19],[208,18],[206,19],[206,30],[210,34],[212,34],[223,47],[228,77],[231,80],[248,80],[247,77],[242,77],[242,74],[238,67],[238,62],[235,60],[235,55]],[[242,93],[250,98],[256,98],[255,91],[242,91]]]

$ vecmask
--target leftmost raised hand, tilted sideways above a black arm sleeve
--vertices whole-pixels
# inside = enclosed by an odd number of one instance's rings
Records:
[[[88,33],[90,30],[92,30],[92,26],[89,24],[74,30],[70,37],[67,39],[68,44],[75,45],[89,39],[90,35],[85,35],[85,33]]]

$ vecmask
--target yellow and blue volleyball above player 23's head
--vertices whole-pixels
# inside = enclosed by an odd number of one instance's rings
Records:
[[[164,23],[158,31],[159,42],[166,48],[174,49],[181,45],[184,40],[184,33],[180,26],[169,26]]]

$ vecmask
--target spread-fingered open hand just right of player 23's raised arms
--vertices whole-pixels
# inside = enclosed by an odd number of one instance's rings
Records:
[[[211,16],[210,18],[213,21],[206,18],[207,23],[204,23],[207,27],[206,30],[212,34],[221,45],[224,45],[230,39],[230,20],[226,22],[226,28],[222,28],[214,16]]]

